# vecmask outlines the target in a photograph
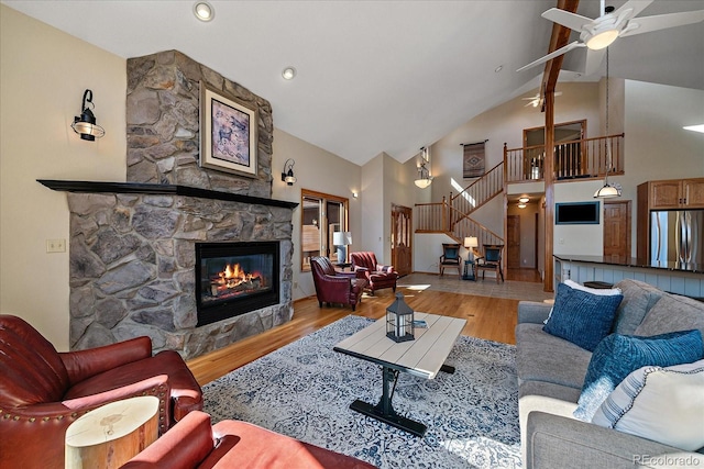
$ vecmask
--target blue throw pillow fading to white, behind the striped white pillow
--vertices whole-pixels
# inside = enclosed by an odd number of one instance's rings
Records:
[[[632,371],[647,366],[671,367],[704,357],[698,330],[652,337],[612,334],[598,344],[586,369],[574,417],[591,422],[602,402]]]

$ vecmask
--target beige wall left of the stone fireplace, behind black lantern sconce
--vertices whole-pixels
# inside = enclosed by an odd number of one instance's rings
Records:
[[[66,194],[36,179],[124,181],[127,62],[0,5],[0,311],[68,349]],[[70,129],[86,89],[106,136]]]

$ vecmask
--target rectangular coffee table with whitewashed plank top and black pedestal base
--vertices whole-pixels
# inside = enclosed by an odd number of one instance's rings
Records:
[[[392,406],[398,373],[404,371],[433,379],[439,371],[454,372],[454,368],[444,365],[444,360],[466,320],[418,312],[415,313],[415,319],[426,321],[428,327],[415,328],[414,340],[396,343],[386,337],[386,317],[382,317],[337,344],[333,350],[382,366],[383,391],[378,404],[373,405],[358,399],[350,409],[416,436],[424,436],[428,429],[425,424],[397,414]],[[394,389],[389,392],[392,383]]]

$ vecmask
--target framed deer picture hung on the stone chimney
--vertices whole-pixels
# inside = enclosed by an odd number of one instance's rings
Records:
[[[200,166],[257,177],[256,110],[200,82]]]

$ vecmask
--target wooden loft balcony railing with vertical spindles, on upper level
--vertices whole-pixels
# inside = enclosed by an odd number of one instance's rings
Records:
[[[603,178],[609,174],[624,174],[624,134],[560,142],[554,145],[554,178]],[[506,148],[506,182],[529,182],[544,179],[544,145]]]

